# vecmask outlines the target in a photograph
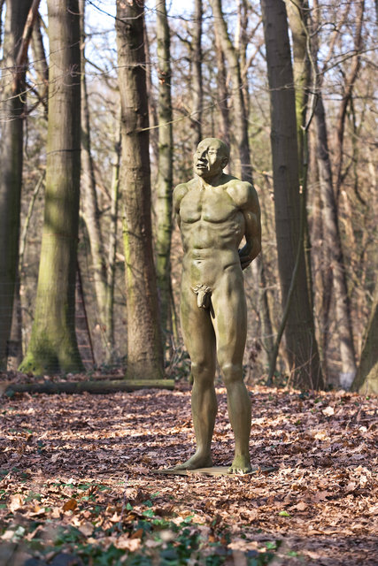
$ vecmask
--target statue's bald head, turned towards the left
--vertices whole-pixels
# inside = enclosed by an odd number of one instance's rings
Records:
[[[205,138],[197,145],[194,154],[194,171],[198,177],[212,179],[228,164],[229,149],[218,138]]]

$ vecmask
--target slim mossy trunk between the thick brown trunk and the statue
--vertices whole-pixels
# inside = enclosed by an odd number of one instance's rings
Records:
[[[157,216],[157,276],[161,325],[168,331],[170,322],[173,136],[171,100],[171,63],[166,0],[157,2],[158,38],[158,201]]]

